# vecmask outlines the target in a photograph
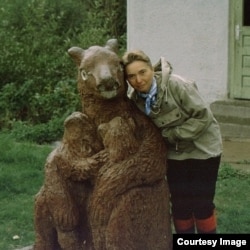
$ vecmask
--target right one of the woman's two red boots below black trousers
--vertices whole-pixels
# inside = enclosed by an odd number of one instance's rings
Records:
[[[216,234],[217,220],[215,212],[205,219],[195,219],[197,233]]]

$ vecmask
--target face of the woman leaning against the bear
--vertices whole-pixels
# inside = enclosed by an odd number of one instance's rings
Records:
[[[154,76],[154,70],[146,62],[134,61],[125,68],[129,84],[137,91],[149,92]]]

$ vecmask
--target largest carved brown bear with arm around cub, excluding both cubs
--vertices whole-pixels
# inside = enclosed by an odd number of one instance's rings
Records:
[[[127,97],[117,41],[112,39],[104,47],[92,46],[87,50],[73,47],[68,52],[79,69],[78,90],[83,113],[96,129],[116,116],[125,120],[132,117],[133,135],[138,145],[136,153],[126,152],[120,168],[124,170],[122,175],[111,170],[101,178],[101,184],[95,186],[98,187],[95,190],[102,190],[105,196],[119,196],[119,209],[109,218],[106,245],[96,243],[102,241],[95,233],[99,224],[95,224],[94,219],[91,223],[95,249],[172,249],[165,143],[153,123]],[[112,163],[112,169],[119,167],[119,162]],[[95,204],[96,200],[99,202],[96,192],[89,211],[95,211],[100,205]]]

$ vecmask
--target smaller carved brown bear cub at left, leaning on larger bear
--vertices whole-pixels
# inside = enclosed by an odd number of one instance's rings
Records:
[[[36,195],[35,250],[87,248],[89,180],[101,162],[98,155],[90,156],[101,147],[86,115],[74,112],[65,120],[62,143],[48,156],[44,185]]]

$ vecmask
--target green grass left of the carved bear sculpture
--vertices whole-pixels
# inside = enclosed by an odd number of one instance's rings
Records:
[[[49,146],[16,143],[9,135],[0,135],[0,249],[33,244],[34,195],[43,183],[50,151]]]

